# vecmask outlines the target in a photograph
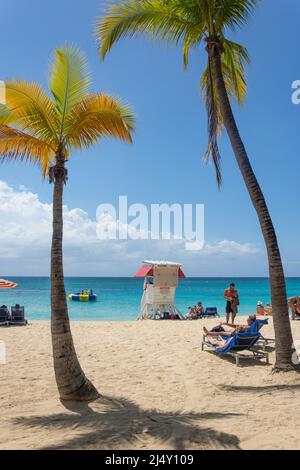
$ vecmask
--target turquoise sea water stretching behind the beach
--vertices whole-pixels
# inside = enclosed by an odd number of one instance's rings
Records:
[[[11,307],[15,303],[25,306],[30,320],[50,318],[49,278],[8,277],[18,286],[0,290],[0,305]],[[188,278],[180,281],[176,292],[176,305],[186,313],[189,305],[202,301],[205,307],[218,307],[223,314],[223,293],[234,281],[240,294],[239,313],[254,312],[258,300],[270,301],[269,281],[265,278]],[[93,289],[97,302],[68,302],[73,320],[135,320],[143,291],[143,279],[136,278],[66,278],[67,294],[82,289]],[[288,295],[300,295],[300,278],[287,279]]]

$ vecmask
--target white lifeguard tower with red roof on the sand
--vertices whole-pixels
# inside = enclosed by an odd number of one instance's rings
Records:
[[[184,318],[175,305],[178,279],[185,278],[181,264],[170,261],[143,261],[135,277],[144,277],[144,292],[138,320]]]

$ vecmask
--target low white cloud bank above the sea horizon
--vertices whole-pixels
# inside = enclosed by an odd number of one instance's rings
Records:
[[[48,275],[51,204],[25,186],[15,189],[0,180],[0,220],[1,274]],[[147,257],[178,260],[190,275],[232,275],[227,268],[255,263],[260,251],[251,243],[231,240],[206,242],[201,251],[192,252],[185,249],[185,240],[102,241],[96,228],[87,212],[64,206],[66,275],[131,275]]]

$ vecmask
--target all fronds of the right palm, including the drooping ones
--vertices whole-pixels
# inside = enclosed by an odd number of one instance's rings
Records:
[[[228,28],[244,24],[260,0],[110,0],[104,16],[97,20],[95,33],[102,59],[121,38],[146,33],[151,39],[181,45],[184,67],[189,52],[202,39],[218,39],[223,45],[222,71],[227,93],[242,104],[247,85],[245,66],[250,62],[247,50],[226,38]],[[201,78],[208,115],[206,159],[212,160],[218,185],[221,184],[218,137],[223,120],[217,97],[212,64]]]

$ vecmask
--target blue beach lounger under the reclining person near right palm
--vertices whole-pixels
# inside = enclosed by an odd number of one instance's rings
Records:
[[[222,336],[220,335],[220,337]],[[269,354],[266,351],[257,348],[257,342],[260,339],[259,334],[236,333],[231,338],[223,337],[222,339],[231,339],[231,341],[229,341],[224,348],[218,348],[215,344],[209,341],[209,335],[204,335],[201,345],[202,351],[207,347],[209,350],[215,351],[220,356],[232,356],[234,357],[235,364],[237,366],[240,363],[240,359],[249,359],[249,354],[241,354],[241,352],[250,351],[253,359],[265,359],[266,363],[269,364]]]

